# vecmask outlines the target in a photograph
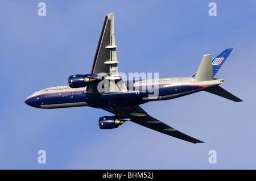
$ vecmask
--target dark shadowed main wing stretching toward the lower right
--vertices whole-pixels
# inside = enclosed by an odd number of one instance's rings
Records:
[[[104,108],[104,110],[118,115],[121,119],[129,119],[134,123],[179,138],[181,140],[189,141],[194,144],[203,142],[197,140],[196,138],[190,137],[187,134],[181,133],[167,124],[162,123],[161,121],[148,115],[148,113],[145,112],[140,106],[111,107]]]

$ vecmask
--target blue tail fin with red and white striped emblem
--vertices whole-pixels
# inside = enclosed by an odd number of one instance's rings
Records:
[[[226,61],[226,58],[228,58],[229,54],[232,52],[233,48],[227,48],[220,54],[218,54],[217,57],[213,58],[212,60],[212,69],[213,69],[213,77],[216,75],[218,70],[221,68],[221,66]],[[196,73],[191,75],[191,77],[195,77]]]

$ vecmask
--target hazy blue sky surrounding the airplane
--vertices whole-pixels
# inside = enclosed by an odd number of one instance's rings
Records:
[[[39,2],[46,16],[38,16]],[[210,2],[217,16],[208,15]],[[255,169],[255,9],[255,1],[1,1],[0,169]],[[35,91],[89,73],[111,12],[123,73],[189,77],[203,54],[234,48],[216,77],[243,102],[198,92],[141,106],[205,144],[131,122],[101,130],[98,118],[111,115],[104,110],[24,104]],[[208,162],[209,150],[217,163]]]

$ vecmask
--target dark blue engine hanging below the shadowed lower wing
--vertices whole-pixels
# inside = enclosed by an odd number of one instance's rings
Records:
[[[125,123],[125,121],[119,120],[115,116],[104,116],[98,119],[98,127],[101,129],[118,128],[119,125],[123,123]]]

